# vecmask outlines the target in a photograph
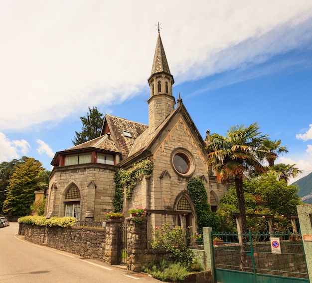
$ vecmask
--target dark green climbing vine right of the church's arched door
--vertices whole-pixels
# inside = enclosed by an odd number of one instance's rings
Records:
[[[221,224],[220,218],[210,210],[204,182],[196,177],[190,178],[187,181],[187,191],[195,206],[198,231],[202,232],[203,227],[212,227],[217,231]]]

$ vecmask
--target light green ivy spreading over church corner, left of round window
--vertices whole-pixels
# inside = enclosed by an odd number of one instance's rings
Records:
[[[137,180],[142,176],[142,174],[144,174],[147,178],[151,178],[153,169],[153,162],[150,158],[146,158],[135,163],[129,170],[120,168],[115,172],[115,196],[113,199],[115,212],[123,210],[124,194],[127,200],[131,200]]]

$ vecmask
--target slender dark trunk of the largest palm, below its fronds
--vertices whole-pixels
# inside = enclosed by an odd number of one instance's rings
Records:
[[[235,178],[235,188],[237,194],[238,201],[238,209],[239,214],[242,221],[242,234],[247,234],[247,218],[246,218],[246,205],[245,205],[245,197],[244,197],[244,188],[243,188],[243,180]],[[245,267],[247,264],[247,237],[242,236],[242,246],[241,246],[241,270],[245,271]]]

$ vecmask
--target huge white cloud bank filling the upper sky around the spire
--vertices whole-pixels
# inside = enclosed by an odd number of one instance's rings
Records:
[[[58,122],[147,87],[158,20],[178,83],[302,44],[311,16],[311,0],[4,1],[0,129]]]

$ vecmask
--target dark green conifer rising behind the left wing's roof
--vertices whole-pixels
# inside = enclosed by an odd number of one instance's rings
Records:
[[[80,120],[82,122],[81,132],[75,131],[76,136],[74,140],[72,140],[74,145],[84,143],[100,136],[103,124],[103,113],[100,113],[94,106],[92,109],[89,107],[87,116],[80,117]]]

